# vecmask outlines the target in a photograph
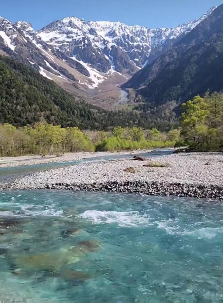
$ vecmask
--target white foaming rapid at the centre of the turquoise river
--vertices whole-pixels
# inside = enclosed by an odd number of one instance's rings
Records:
[[[149,216],[140,215],[138,211],[97,211],[86,210],[78,216],[82,219],[88,219],[93,223],[111,224],[117,223],[120,227],[137,227],[149,224]]]

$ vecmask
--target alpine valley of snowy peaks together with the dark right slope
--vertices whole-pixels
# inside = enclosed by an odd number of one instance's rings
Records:
[[[0,17],[2,56],[28,65],[76,100],[105,110],[136,109],[144,119],[148,113],[162,119],[164,111],[172,119],[190,95],[222,90],[222,82],[213,81],[223,70],[222,36],[223,5],[176,28],[66,17],[35,31],[28,22]]]

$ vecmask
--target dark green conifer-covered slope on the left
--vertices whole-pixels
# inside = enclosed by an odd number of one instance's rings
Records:
[[[55,125],[107,129],[138,124],[136,113],[115,113],[78,102],[22,62],[0,56],[0,122],[16,126],[45,120]],[[121,121],[120,121],[121,120]]]

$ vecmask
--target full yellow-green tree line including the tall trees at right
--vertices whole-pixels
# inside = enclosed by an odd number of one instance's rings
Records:
[[[180,128],[117,126],[109,131],[35,122],[15,127],[0,124],[0,155],[63,154],[77,151],[115,151],[189,145],[195,151],[223,150],[223,94],[206,93],[183,103]]]

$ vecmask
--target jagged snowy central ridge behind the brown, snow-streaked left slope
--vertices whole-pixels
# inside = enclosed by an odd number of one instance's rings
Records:
[[[120,22],[85,22],[84,19],[68,17],[50,23],[37,33],[48,45],[91,64],[99,72],[114,68],[131,75],[148,62],[150,55],[165,51],[214,9],[176,28],[150,29]]]

